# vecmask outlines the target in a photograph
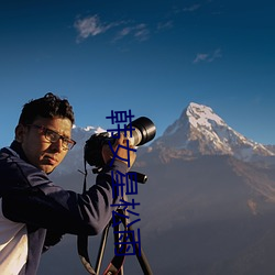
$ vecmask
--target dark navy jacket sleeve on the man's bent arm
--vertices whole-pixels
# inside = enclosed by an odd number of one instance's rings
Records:
[[[112,184],[116,173],[127,174],[128,166],[114,161],[109,170],[97,176],[96,184],[85,194],[55,186],[44,174],[20,158],[7,164],[2,189],[6,218],[34,228],[73,233],[98,234],[112,217]],[[3,167],[3,165],[1,165]]]

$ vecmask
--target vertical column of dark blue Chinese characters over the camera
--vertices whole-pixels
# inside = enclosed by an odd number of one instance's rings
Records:
[[[112,165],[114,160],[121,160],[128,164],[130,167],[130,151],[136,151],[135,148],[131,147],[129,142],[129,138],[132,138],[132,114],[131,110],[128,111],[111,111],[110,117],[106,117],[107,119],[111,119],[111,123],[116,124],[114,129],[108,129],[108,132],[111,132],[112,138],[119,139],[121,134],[127,138],[125,145],[118,145],[116,151],[112,147],[111,142],[109,141],[110,150],[112,151],[113,158],[109,165]],[[128,151],[128,157],[121,158],[118,156],[118,151],[120,147],[123,147]],[[140,213],[136,211],[136,207],[140,206],[140,202],[135,202],[134,199],[132,201],[128,201],[127,195],[138,195],[138,178],[136,173],[128,172],[123,174],[119,170],[116,173],[112,172],[112,196],[113,197],[121,197],[120,202],[117,205],[111,205],[116,207],[116,210],[112,211],[112,227],[116,227],[117,231],[117,241],[114,242],[116,255],[134,255],[141,254],[141,240],[140,240],[140,229],[136,231],[133,230],[132,226],[139,222]],[[130,221],[130,218],[133,218]],[[124,226],[124,230],[120,229],[120,226]]]

